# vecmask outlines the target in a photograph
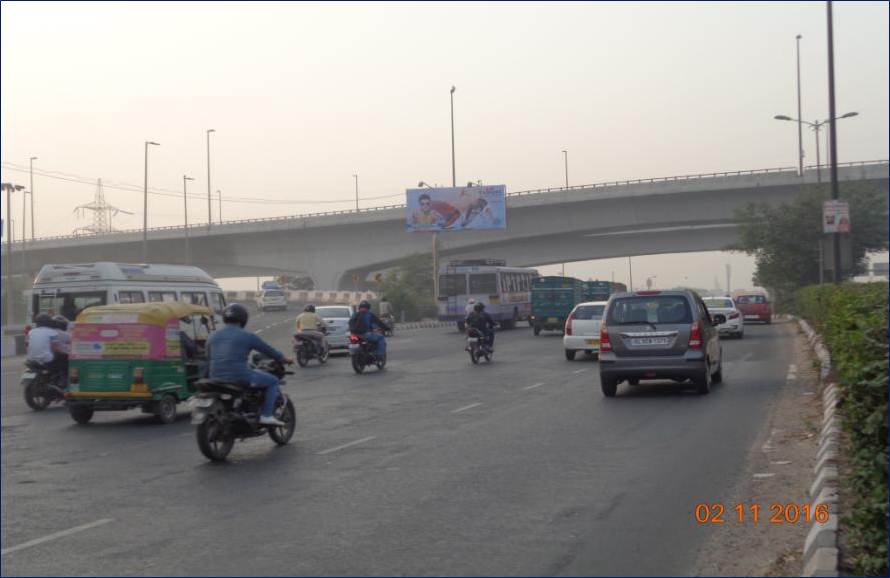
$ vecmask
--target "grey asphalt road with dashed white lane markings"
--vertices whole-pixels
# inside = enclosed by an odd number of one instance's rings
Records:
[[[278,347],[285,313],[252,320]],[[199,453],[187,411],[78,426],[30,412],[3,362],[5,575],[679,575],[713,527],[785,383],[786,323],[724,342],[707,396],[669,383],[604,398],[557,334],[498,334],[471,366],[450,329],[390,339],[386,371],[297,370],[292,443]],[[70,532],[66,532],[70,530]],[[62,532],[63,534],[58,534]],[[11,551],[10,551],[11,550]]]

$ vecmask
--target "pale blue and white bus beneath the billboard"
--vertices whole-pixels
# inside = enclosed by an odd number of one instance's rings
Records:
[[[439,321],[457,321],[463,331],[467,301],[473,298],[502,327],[515,327],[531,315],[532,279],[537,276],[535,269],[507,267],[496,259],[451,261],[439,270]]]

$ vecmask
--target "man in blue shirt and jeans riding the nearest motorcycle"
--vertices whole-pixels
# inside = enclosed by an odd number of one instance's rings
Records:
[[[238,303],[230,303],[223,310],[225,326],[210,335],[207,340],[207,358],[210,360],[210,377],[238,383],[249,384],[250,387],[264,389],[263,408],[260,411],[260,423],[282,427],[284,422],[277,419],[273,412],[278,399],[278,378],[264,371],[250,369],[247,358],[251,351],[259,351],[280,363],[290,365],[293,359],[285,357],[280,351],[263,341],[259,336],[244,329],[247,325],[247,309]]]

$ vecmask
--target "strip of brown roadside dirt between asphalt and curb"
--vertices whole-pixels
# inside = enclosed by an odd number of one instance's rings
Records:
[[[799,576],[803,571],[803,545],[810,524],[803,522],[803,516],[796,523],[771,522],[770,506],[810,502],[807,490],[814,479],[822,405],[819,373],[806,338],[796,322],[781,323],[793,332],[788,363],[797,371],[789,371],[767,424],[751,448],[745,481],[722,500],[725,517],[734,520],[737,514],[730,508],[744,504],[746,521],[710,526],[710,537],[692,570],[695,576]],[[751,520],[752,504],[760,506],[757,523]]]

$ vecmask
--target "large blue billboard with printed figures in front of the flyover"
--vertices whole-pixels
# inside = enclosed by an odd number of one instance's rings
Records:
[[[412,233],[507,228],[506,185],[408,189],[405,206]]]

